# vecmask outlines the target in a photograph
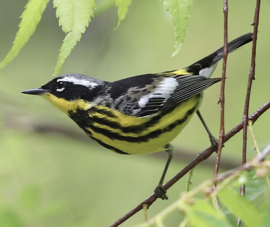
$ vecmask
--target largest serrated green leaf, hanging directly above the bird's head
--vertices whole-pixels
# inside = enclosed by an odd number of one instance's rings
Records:
[[[54,0],[53,5],[57,8],[56,16],[59,17],[59,25],[62,26],[63,32],[68,33],[60,48],[55,75],[59,73],[62,64],[89,25],[95,0]]]

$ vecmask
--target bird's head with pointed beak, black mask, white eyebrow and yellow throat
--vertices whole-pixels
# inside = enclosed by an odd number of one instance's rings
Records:
[[[43,96],[68,114],[68,111],[75,111],[77,107],[87,108],[85,103],[91,103],[105,83],[90,76],[65,74],[40,88],[25,90],[22,93]]]

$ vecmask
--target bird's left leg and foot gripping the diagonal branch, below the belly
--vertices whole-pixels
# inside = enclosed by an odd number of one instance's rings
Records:
[[[158,198],[161,198],[162,200],[164,199],[168,199],[168,196],[166,195],[166,190],[165,188],[162,186],[163,181],[164,181],[164,177],[166,175],[167,169],[169,167],[169,164],[171,162],[171,159],[173,158],[174,155],[174,148],[171,144],[167,144],[164,146],[164,148],[166,149],[165,152],[168,155],[168,159],[165,165],[165,168],[163,170],[163,173],[161,175],[160,181],[158,183],[158,186],[155,188],[154,192],[157,195]]]

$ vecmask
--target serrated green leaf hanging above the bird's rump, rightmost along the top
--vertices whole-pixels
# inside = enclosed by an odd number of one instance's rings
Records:
[[[192,0],[164,0],[164,7],[170,14],[176,37],[174,53],[172,56],[178,53],[184,42],[185,29],[187,28],[188,24],[187,19],[190,16],[190,6],[192,6]]]

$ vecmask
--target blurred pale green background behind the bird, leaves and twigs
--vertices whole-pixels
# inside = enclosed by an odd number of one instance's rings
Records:
[[[0,60],[12,46],[19,16],[27,1],[0,3]],[[175,56],[173,24],[163,1],[133,1],[117,30],[113,1],[100,0],[82,39],[64,63],[61,74],[81,73],[103,80],[183,68],[223,45],[223,1],[193,1],[186,39]],[[112,6],[112,7],[111,7]],[[255,1],[229,1],[229,41],[252,32]],[[269,100],[269,1],[261,1],[249,113]],[[94,12],[94,14],[95,14]],[[73,121],[40,97],[20,92],[50,81],[65,34],[58,26],[52,1],[26,46],[0,70],[0,226],[108,226],[153,193],[166,162],[164,152],[116,155],[84,134]],[[225,87],[225,131],[242,119],[250,67],[251,44],[230,54]],[[220,63],[214,77],[220,77]],[[220,87],[204,93],[201,114],[218,137]],[[269,110],[254,124],[261,149],[269,143]],[[172,142],[176,148],[168,180],[209,146],[197,116]],[[241,163],[242,133],[225,144],[221,169]],[[255,155],[248,135],[248,158]],[[213,175],[215,155],[198,165],[193,186]],[[183,177],[157,200],[149,218],[179,197]],[[192,187],[193,187],[192,186]],[[12,222],[9,222],[12,220]],[[139,212],[121,226],[143,222]],[[179,220],[166,222],[176,226]]]

